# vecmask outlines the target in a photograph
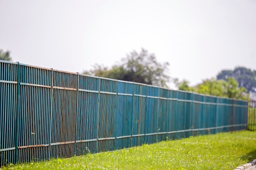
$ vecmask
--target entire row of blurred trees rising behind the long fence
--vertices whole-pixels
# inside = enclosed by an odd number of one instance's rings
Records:
[[[10,51],[0,49],[0,60],[11,61]],[[168,87],[171,77],[168,74],[168,62],[160,63],[155,54],[141,49],[132,51],[121,62],[108,68],[95,64],[94,68],[84,74],[139,82],[155,86]],[[236,67],[234,70],[222,70],[216,78],[203,80],[201,84],[191,87],[186,80],[173,79],[179,90],[192,91],[206,95],[248,99],[247,93],[256,97],[256,70]]]

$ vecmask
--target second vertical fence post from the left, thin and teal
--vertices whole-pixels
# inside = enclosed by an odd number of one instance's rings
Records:
[[[50,124],[50,128],[49,128],[49,151],[48,151],[48,159],[51,158],[51,140],[52,140],[52,105],[53,105],[53,68],[52,68],[52,71],[51,71],[51,95],[50,95],[50,121],[49,121],[49,124]]]

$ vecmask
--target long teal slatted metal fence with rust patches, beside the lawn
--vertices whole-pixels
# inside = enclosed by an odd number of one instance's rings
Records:
[[[248,103],[0,61],[0,163],[247,128]]]

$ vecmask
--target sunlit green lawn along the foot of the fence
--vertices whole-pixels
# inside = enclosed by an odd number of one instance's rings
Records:
[[[256,132],[242,131],[189,137],[98,154],[25,163],[25,170],[232,170],[256,157]]]

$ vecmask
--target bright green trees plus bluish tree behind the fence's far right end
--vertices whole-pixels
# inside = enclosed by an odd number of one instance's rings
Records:
[[[179,90],[193,91],[206,95],[215,95],[235,99],[249,99],[256,96],[256,71],[245,67],[234,70],[222,70],[216,78],[206,79],[202,84],[190,87],[189,82],[174,79]]]

